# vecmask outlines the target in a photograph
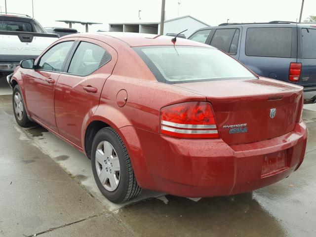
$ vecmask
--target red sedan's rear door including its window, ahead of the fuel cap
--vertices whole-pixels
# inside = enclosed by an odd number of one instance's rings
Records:
[[[67,140],[81,145],[82,123],[94,114],[118,56],[99,40],[79,41],[55,88],[56,125]]]

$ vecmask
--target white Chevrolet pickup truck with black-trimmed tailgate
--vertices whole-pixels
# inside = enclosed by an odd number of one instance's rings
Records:
[[[37,58],[57,38],[27,15],[0,15],[0,72],[13,72],[21,60]]]

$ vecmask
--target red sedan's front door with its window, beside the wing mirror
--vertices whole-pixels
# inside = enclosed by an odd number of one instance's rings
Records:
[[[34,69],[22,76],[27,108],[35,118],[58,132],[54,114],[54,89],[74,40],[54,44],[36,61]]]

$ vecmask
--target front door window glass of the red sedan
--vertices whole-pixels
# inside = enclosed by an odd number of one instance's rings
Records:
[[[60,72],[74,41],[61,42],[50,48],[41,58],[38,69]]]

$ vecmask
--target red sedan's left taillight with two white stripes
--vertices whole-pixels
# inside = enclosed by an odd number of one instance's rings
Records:
[[[177,138],[219,138],[210,103],[185,102],[160,110],[161,134]]]

